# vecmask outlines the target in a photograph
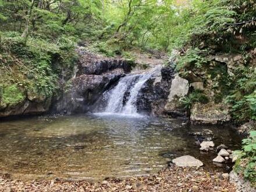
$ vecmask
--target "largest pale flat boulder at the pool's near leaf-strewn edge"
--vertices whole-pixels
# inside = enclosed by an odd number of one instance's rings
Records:
[[[172,162],[180,167],[198,167],[204,165],[200,160],[195,159],[190,155],[184,155],[182,157],[173,159]]]

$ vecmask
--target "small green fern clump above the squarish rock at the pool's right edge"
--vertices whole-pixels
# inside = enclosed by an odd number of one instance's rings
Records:
[[[184,109],[191,109],[191,106],[195,102],[201,102],[202,104],[207,104],[209,102],[209,99],[204,93],[202,93],[201,90],[194,90],[192,93],[190,93],[186,97],[180,98],[179,101],[184,107]]]

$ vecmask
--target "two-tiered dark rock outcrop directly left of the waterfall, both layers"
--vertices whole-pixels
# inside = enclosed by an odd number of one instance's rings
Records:
[[[52,112],[91,111],[104,91],[131,71],[131,63],[126,60],[105,58],[82,48],[79,48],[78,52],[80,57],[76,77],[72,80],[69,91],[63,93],[52,106]]]

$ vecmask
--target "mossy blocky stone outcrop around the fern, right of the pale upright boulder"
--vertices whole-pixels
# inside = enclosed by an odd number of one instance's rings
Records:
[[[202,66],[195,67],[191,62],[179,71],[179,75],[189,81],[190,92],[201,91],[209,99],[208,104],[193,104],[189,111],[190,120],[209,124],[229,122],[229,105],[223,102],[228,90],[225,82],[234,75],[237,66],[243,66],[243,56],[215,52],[209,52],[207,56],[202,52],[202,56],[205,59]]]

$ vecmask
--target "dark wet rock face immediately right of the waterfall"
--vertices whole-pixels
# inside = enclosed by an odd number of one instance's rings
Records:
[[[145,82],[137,98],[138,112],[151,115],[162,115],[170,93],[174,70],[172,67],[162,67],[152,74]]]

